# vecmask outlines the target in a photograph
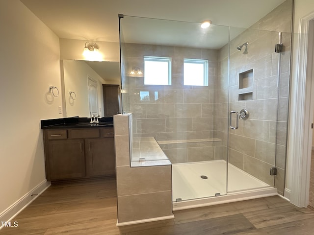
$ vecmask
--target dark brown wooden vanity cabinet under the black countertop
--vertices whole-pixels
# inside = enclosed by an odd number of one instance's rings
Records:
[[[115,175],[113,127],[44,129],[48,181]]]

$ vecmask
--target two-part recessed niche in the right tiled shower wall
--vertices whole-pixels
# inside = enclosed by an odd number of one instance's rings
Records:
[[[253,69],[239,73],[239,90],[245,89],[245,92],[239,94],[238,100],[250,100],[253,98]]]

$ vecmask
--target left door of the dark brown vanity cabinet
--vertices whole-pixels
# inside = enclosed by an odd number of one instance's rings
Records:
[[[49,167],[50,179],[48,180],[84,177],[84,141],[49,141]]]

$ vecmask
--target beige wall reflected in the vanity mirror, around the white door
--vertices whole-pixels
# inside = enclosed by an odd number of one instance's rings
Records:
[[[105,80],[84,61],[63,60],[66,117],[90,117],[88,103],[87,75],[97,81],[98,114],[104,116],[103,85]],[[70,98],[69,91],[75,92],[77,98]]]

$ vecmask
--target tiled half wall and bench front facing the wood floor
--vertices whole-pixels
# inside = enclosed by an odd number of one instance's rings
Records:
[[[115,115],[118,226],[172,218],[171,164],[131,167],[130,115]]]

